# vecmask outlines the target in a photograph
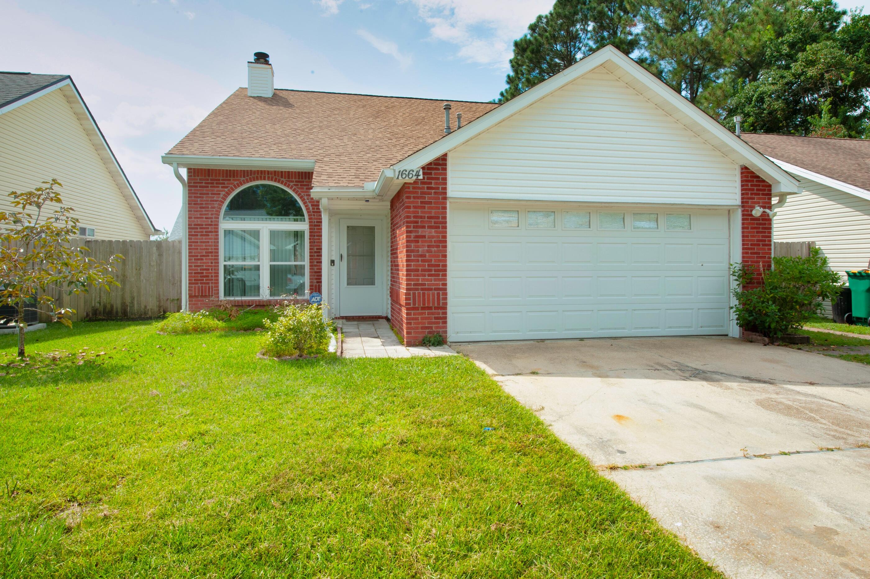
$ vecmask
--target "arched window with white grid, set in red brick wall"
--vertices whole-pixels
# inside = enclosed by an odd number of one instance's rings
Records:
[[[222,298],[305,295],[308,223],[291,192],[273,183],[240,189],[220,228]]]

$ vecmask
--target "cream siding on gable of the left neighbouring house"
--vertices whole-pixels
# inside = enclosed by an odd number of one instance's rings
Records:
[[[150,239],[59,90],[0,115],[0,209],[50,178],[97,239]]]

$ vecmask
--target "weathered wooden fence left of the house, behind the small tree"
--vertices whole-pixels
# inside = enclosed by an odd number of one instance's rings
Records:
[[[123,255],[115,280],[121,284],[103,288],[90,287],[88,293],[66,295],[54,293],[58,306],[76,310],[73,320],[117,320],[155,318],[181,310],[181,241],[141,241],[77,239],[90,249],[89,257],[108,261]],[[40,314],[41,321],[49,319]]]

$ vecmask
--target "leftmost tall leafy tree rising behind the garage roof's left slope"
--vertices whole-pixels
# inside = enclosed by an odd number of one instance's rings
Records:
[[[529,30],[513,43],[511,73],[498,101],[504,103],[575,64],[592,50],[613,44],[630,53],[638,47],[634,35],[635,0],[556,0]]]

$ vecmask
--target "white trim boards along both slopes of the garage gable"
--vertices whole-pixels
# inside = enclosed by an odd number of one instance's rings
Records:
[[[598,67],[603,67],[613,77],[619,78],[633,91],[638,92],[661,111],[666,112],[680,125],[686,127],[688,131],[692,131],[713,149],[730,158],[735,164],[746,165],[760,174],[762,178],[773,185],[774,193],[800,191],[798,182],[778,165],[755,151],[751,146],[746,145],[731,131],[719,125],[715,119],[689,103],[686,98],[673,91],[658,78],[653,77],[649,71],[646,71],[631,58],[609,45],[502,104],[498,109],[465,125],[462,129],[453,131],[445,138],[416,151],[392,165],[391,169],[400,171],[425,165],[432,159],[440,157],[445,152],[451,151],[465,141],[489,130],[506,118],[523,111],[526,107]]]

